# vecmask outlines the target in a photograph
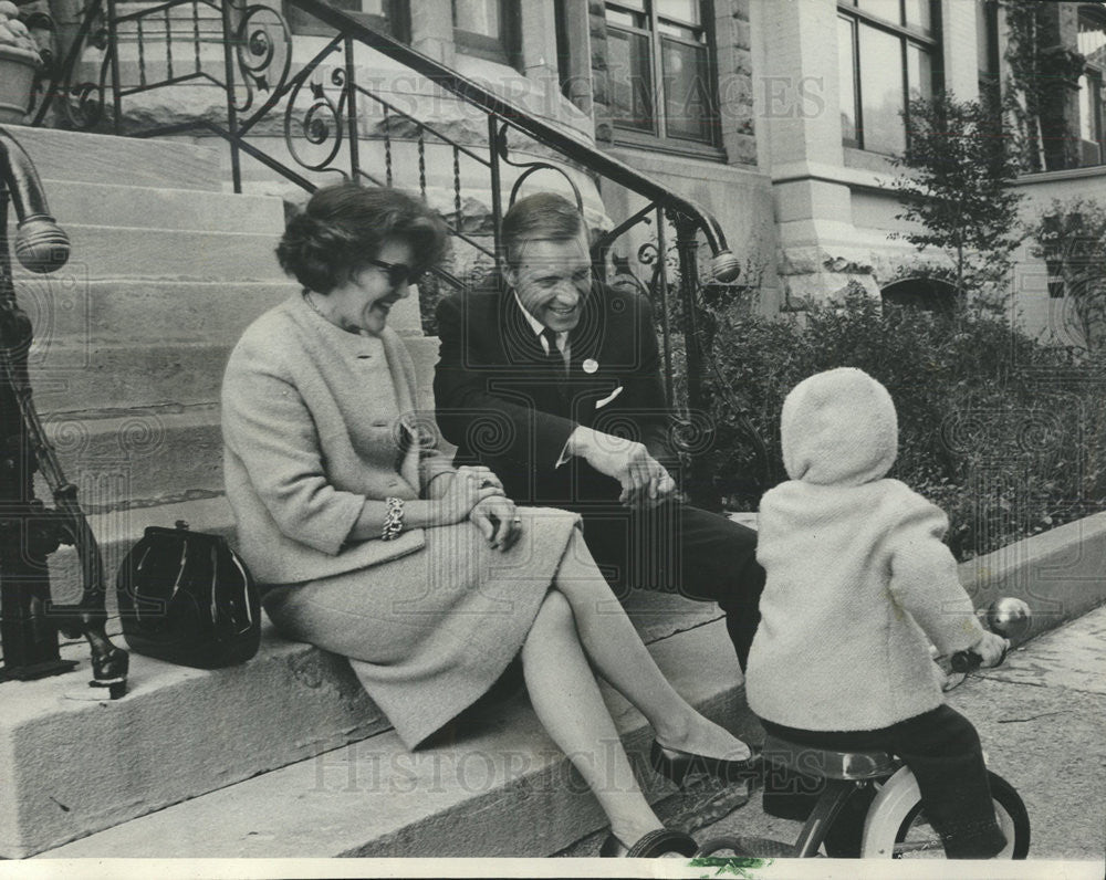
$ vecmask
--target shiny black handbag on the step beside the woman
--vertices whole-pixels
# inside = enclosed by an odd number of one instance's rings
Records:
[[[219,535],[148,527],[115,582],[132,650],[170,663],[217,669],[249,660],[261,642],[258,591]]]

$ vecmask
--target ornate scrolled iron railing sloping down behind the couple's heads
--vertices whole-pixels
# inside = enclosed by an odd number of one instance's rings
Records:
[[[286,2],[334,30],[323,48],[300,64],[293,64],[288,23],[268,6],[167,0],[121,12],[117,0],[90,0],[76,33],[67,48],[62,46],[60,63],[42,84],[34,124],[139,137],[206,130],[229,144],[236,191],[242,189],[243,156],[306,190],[334,176],[418,189],[424,198],[434,189],[439,202],[435,207],[455,239],[471,249],[477,263],[495,268],[502,251],[503,207],[534,174],[559,175],[561,186],[567,181],[578,205],[583,202],[574,174],[597,178],[605,190],[611,185],[622,187],[643,207],[594,241],[597,271],[611,281],[619,274],[618,269],[627,270],[625,255],[620,262],[612,258],[616,242],[630,230],[637,229],[635,234],[640,235],[641,224],[653,226],[653,241],[636,250],[639,271],[624,271],[618,280],[639,286],[653,298],[659,315],[669,400],[676,402],[674,376],[679,373],[686,390],[680,409],[688,416],[685,439],[697,449],[709,446],[705,364],[697,326],[703,307],[701,295],[705,284],[732,283],[740,269],[717,220],[582,136],[526,112],[322,0]],[[466,137],[418,118],[417,112],[400,106],[395,94],[378,84],[364,77],[358,81],[358,67],[364,69],[369,52],[418,74],[416,92],[432,84],[424,96],[458,102],[469,126]],[[143,95],[189,86],[202,86],[219,99],[208,102],[195,119],[159,126],[136,122],[140,112],[133,108],[140,105]],[[274,121],[282,133],[279,148],[268,134]],[[372,136],[365,136],[371,127]],[[428,182],[430,164],[435,180],[449,178],[447,186]],[[479,182],[473,184],[474,178]],[[473,198],[473,192],[477,201],[486,200],[486,228],[476,230],[467,226],[465,216],[467,199]],[[669,227],[674,230],[671,244],[666,232]],[[706,272],[699,265],[702,249],[710,254]],[[670,250],[675,259],[669,259]],[[461,286],[456,264],[452,272],[442,270],[438,275]],[[682,346],[678,348],[670,326],[674,318],[682,324]],[[682,370],[677,359],[682,362]],[[714,390],[726,391],[717,384]],[[751,426],[749,434],[766,473],[763,444]],[[709,478],[696,474],[695,469],[691,478],[692,494],[709,503]]]

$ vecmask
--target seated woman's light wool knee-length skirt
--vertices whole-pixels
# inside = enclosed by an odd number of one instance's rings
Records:
[[[270,589],[265,611],[286,638],[347,657],[415,748],[507,669],[578,528],[572,513],[518,511],[521,535],[505,553],[468,521],[427,528],[418,553]]]

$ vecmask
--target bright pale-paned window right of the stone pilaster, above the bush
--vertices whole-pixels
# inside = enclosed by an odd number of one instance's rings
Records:
[[[940,88],[940,45],[930,0],[841,0],[837,4],[842,142],[874,153],[906,147],[902,114]]]

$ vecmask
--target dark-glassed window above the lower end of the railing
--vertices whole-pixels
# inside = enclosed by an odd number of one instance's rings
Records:
[[[716,145],[709,3],[617,0],[606,3],[605,18],[607,95],[618,139],[677,149]]]

